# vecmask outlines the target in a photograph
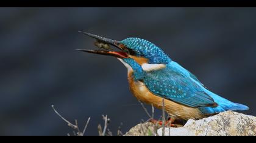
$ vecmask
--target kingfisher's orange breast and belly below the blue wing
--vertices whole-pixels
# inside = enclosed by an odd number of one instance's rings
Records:
[[[132,72],[128,74],[128,81],[130,90],[133,95],[140,101],[146,104],[152,104],[154,107],[161,109],[163,98],[156,96],[148,90],[146,85],[141,81],[133,81]],[[164,99],[166,112],[177,119],[202,119],[205,117],[197,108],[188,107],[186,105],[178,104],[169,99]]]

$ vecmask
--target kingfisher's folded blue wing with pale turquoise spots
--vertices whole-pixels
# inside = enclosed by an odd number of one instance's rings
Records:
[[[144,84],[154,95],[170,99],[190,107],[213,107],[217,104],[205,93],[198,79],[176,62],[162,70],[149,71]]]

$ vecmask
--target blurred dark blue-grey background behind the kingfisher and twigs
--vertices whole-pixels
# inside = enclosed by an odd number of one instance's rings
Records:
[[[246,104],[256,115],[255,8],[0,8],[0,135],[98,135],[102,114],[116,135],[148,119],[112,57],[78,30],[116,40],[148,39],[213,92]],[[148,107],[149,108],[149,107]],[[156,113],[157,115],[160,115]]]

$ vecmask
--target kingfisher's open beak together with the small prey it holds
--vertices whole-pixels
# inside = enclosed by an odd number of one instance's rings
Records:
[[[94,54],[99,54],[99,55],[108,55],[108,56],[114,56],[116,58],[129,58],[128,55],[128,49],[121,44],[119,41],[116,40],[112,40],[109,38],[104,38],[102,36],[98,36],[98,35],[93,35],[91,33],[87,33],[87,32],[82,32],[79,31],[80,33],[84,33],[84,35],[90,36],[91,38],[96,39],[96,42],[94,42],[94,45],[96,45],[97,47],[99,47],[98,50],[88,50],[88,49],[76,49],[78,51],[82,51],[82,52],[87,52],[87,53],[94,53]],[[110,45],[112,45],[113,47],[118,48],[121,51],[113,51],[112,48],[110,48]],[[101,50],[102,48],[104,48],[105,50]]]

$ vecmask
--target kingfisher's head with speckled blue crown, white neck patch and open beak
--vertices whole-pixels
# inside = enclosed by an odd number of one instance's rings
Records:
[[[145,39],[126,38],[123,41],[116,41],[86,32],[82,33],[91,36],[104,44],[113,45],[114,47],[118,48],[119,51],[87,49],[77,50],[99,55],[115,56],[130,70],[158,70],[165,68],[166,64],[171,62],[171,59],[163,52],[161,48],[149,41],[146,41]]]

